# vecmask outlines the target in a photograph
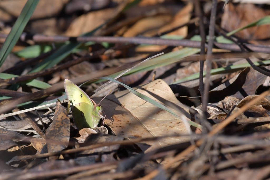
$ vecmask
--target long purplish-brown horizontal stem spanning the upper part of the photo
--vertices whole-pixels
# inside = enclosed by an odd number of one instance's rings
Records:
[[[6,37],[6,34],[0,34],[0,38]],[[45,35],[33,35],[32,38],[35,42],[108,42],[108,43],[133,43],[133,44],[151,44],[151,45],[167,45],[167,46],[184,46],[184,47],[194,47],[201,48],[201,42],[193,41],[188,39],[174,40],[174,39],[161,39],[156,37],[132,37],[132,38],[123,38],[123,37],[106,37],[106,36],[91,36],[91,37],[67,37],[67,36],[45,36]],[[227,49],[231,51],[241,51],[238,45],[226,44],[226,43],[217,43],[214,42],[214,45],[220,49]],[[249,49],[254,52],[261,53],[270,53],[269,46],[262,45],[252,45],[244,44]],[[206,45],[207,47],[207,45]]]

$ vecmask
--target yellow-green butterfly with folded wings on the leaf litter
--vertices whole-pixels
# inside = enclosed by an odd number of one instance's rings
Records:
[[[100,104],[96,104],[72,81],[65,79],[64,86],[72,107],[73,121],[78,130],[97,127],[100,119],[104,121],[103,108]]]

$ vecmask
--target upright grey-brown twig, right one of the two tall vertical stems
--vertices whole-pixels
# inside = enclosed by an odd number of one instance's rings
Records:
[[[215,19],[216,19],[216,12],[217,12],[217,0],[213,0],[212,2],[212,10],[211,10],[211,17],[210,17],[210,25],[209,25],[209,40],[208,40],[208,47],[207,47],[207,56],[206,56],[206,75],[205,75],[205,86],[204,86],[204,95],[203,95],[203,102],[202,102],[202,110],[204,114],[206,114],[207,110],[207,101],[209,96],[209,89],[210,89],[210,70],[211,70],[211,55],[212,55],[212,48],[214,42],[214,35],[215,35]]]

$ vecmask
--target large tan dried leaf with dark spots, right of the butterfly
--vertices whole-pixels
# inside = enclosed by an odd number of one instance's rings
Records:
[[[188,108],[176,99],[170,87],[163,80],[158,79],[135,89],[159,103],[182,109],[185,112],[183,118],[190,120],[190,115],[187,113]],[[153,106],[127,90],[106,97],[101,104],[109,118],[105,120],[105,123],[118,136],[147,138],[189,133],[189,130],[186,129],[189,125],[185,125],[183,120]],[[144,142],[151,145],[150,148],[142,144],[139,144],[139,146],[147,152],[183,141],[187,141],[187,138],[166,137],[159,141]]]

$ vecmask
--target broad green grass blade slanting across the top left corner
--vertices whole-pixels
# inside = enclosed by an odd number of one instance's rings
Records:
[[[39,0],[28,0],[23,7],[21,14],[16,20],[14,26],[12,27],[10,33],[8,34],[8,37],[6,38],[0,50],[0,67],[5,62],[6,57],[9,55],[12,48],[15,46],[16,42],[20,38],[23,29],[25,28],[31,15],[33,14],[38,2]]]

